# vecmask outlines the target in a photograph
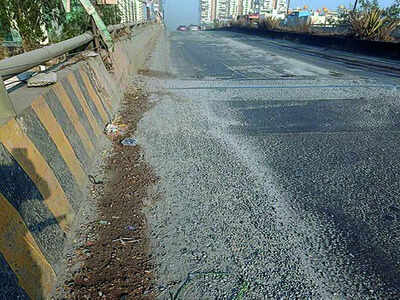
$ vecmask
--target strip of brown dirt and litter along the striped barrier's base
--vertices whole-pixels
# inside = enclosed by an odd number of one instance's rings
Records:
[[[142,209],[157,178],[144,161],[140,146],[120,143],[133,136],[149,108],[145,91],[131,86],[118,117],[128,125],[128,131],[113,139],[104,180],[91,178],[98,213],[96,220],[81,226],[78,235],[84,243],[68,259],[69,279],[58,293],[63,294],[61,298],[154,299],[153,259]],[[79,262],[79,267],[74,268],[73,262]]]

